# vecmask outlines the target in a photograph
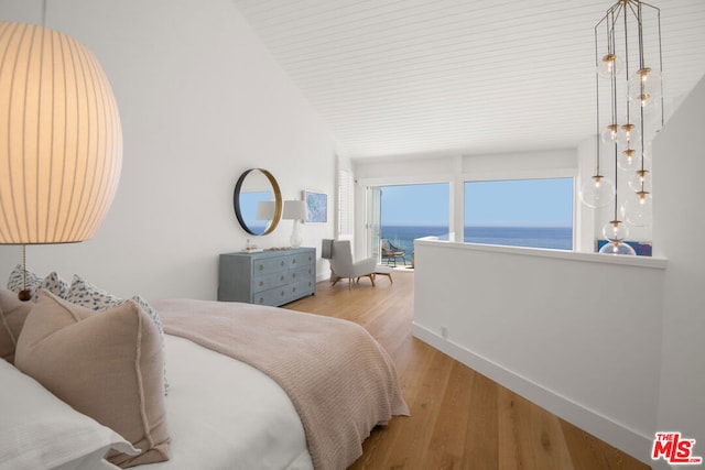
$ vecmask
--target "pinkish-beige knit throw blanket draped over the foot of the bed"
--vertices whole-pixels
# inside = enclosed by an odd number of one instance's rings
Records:
[[[290,396],[316,469],[345,469],[376,425],[409,415],[387,351],[350,321],[240,303],[152,303],[164,331],[248,363]]]

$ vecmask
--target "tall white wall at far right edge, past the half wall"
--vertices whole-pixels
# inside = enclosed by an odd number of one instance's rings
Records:
[[[705,78],[653,143],[653,243],[655,253],[669,259],[658,429],[696,439],[699,457],[705,457],[704,125]]]

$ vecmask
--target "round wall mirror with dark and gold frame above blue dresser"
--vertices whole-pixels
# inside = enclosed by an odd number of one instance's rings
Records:
[[[282,218],[282,194],[267,170],[251,168],[240,175],[232,205],[240,227],[253,236],[273,232]]]

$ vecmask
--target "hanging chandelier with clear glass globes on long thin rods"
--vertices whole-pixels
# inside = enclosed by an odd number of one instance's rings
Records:
[[[600,253],[636,254],[626,242],[629,227],[651,225],[649,168],[651,140],[663,127],[662,62],[660,9],[619,0],[595,26],[596,171],[581,199],[592,208],[614,206]],[[614,179],[601,174],[603,156]]]

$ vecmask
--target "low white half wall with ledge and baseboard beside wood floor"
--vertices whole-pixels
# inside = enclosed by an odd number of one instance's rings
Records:
[[[644,460],[664,261],[430,241],[415,253],[414,336]]]

